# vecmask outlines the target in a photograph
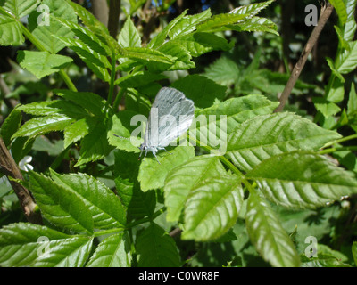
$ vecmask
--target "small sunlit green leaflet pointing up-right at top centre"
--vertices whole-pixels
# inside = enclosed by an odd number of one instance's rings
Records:
[[[211,18],[211,15],[212,14],[210,8],[195,15],[185,15],[184,17],[180,18],[179,22],[170,29],[168,33],[170,39],[174,39],[176,37],[184,37],[192,33],[195,30],[197,24],[199,24],[203,20]]]

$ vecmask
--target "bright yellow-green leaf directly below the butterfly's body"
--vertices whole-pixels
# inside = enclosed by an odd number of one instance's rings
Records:
[[[142,191],[161,188],[171,169],[195,157],[195,149],[192,146],[178,146],[168,151],[171,154],[161,151],[156,155],[160,164],[150,154],[140,164],[137,180],[140,182]]]

